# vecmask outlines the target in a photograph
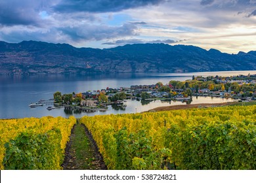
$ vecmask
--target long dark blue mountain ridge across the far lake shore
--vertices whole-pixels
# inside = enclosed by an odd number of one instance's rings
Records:
[[[256,69],[256,51],[226,54],[196,46],[127,44],[75,48],[70,44],[0,41],[0,73],[174,73]]]

